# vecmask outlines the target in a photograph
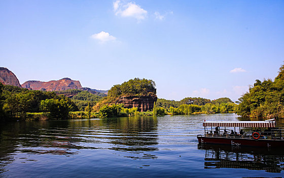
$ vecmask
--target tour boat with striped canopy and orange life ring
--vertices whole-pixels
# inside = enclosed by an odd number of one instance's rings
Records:
[[[198,142],[201,144],[230,144],[260,147],[284,146],[284,139],[282,137],[284,129],[276,128],[275,119],[239,122],[210,122],[204,120],[203,127],[204,135],[197,135]],[[215,129],[212,130],[212,127],[215,127]],[[226,127],[232,130],[227,131]],[[236,132],[236,128],[238,128],[239,133]]]

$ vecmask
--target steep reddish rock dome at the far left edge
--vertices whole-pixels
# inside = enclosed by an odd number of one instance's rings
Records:
[[[21,87],[16,75],[5,67],[0,67],[0,82],[5,85],[14,85]]]

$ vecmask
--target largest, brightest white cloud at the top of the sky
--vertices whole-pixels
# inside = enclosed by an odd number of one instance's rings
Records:
[[[121,17],[133,17],[140,21],[147,16],[147,11],[134,2],[123,4],[118,0],[113,3],[113,6],[115,15],[120,15]]]

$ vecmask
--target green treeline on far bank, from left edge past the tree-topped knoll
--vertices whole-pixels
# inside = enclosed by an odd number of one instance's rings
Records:
[[[185,98],[181,101],[158,99],[153,110],[138,112],[112,102],[123,96],[156,96],[155,82],[134,78],[114,85],[108,97],[82,90],[58,92],[32,91],[0,83],[0,119],[26,118],[90,118],[134,115],[199,114],[234,112],[236,104],[229,98],[210,101],[204,98]],[[97,107],[99,106],[99,107]]]

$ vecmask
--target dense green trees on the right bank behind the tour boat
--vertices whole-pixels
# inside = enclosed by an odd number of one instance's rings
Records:
[[[284,65],[274,81],[256,80],[249,92],[239,98],[236,113],[244,117],[284,118]]]

